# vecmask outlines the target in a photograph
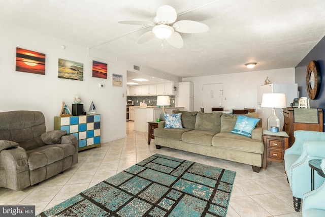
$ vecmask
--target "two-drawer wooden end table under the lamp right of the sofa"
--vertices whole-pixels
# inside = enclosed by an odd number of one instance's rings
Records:
[[[289,136],[284,131],[273,133],[263,130],[264,143],[263,169],[266,170],[267,161],[284,163],[284,151],[289,148]]]

